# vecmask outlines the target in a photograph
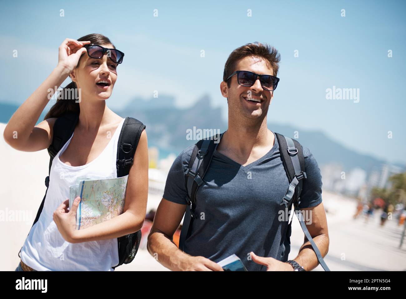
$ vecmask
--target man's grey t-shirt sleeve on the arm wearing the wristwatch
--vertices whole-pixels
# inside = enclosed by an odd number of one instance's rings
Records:
[[[322,175],[319,165],[307,147],[303,147],[307,178],[303,180],[299,208],[310,208],[322,202]]]

